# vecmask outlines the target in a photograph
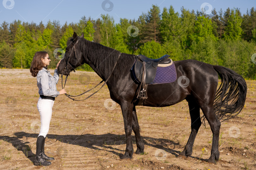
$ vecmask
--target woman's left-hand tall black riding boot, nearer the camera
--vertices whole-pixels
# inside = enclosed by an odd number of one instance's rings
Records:
[[[43,158],[42,151],[44,147],[44,140],[44,136],[39,136],[36,140],[36,157],[34,160],[34,165],[48,166],[52,164],[52,162],[46,161]]]

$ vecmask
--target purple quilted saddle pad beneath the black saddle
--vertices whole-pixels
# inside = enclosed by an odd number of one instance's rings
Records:
[[[177,72],[174,63],[168,67],[157,67],[155,79],[149,84],[162,84],[174,82],[177,78]]]

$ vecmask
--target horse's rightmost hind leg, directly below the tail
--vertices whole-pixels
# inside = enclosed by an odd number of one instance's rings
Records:
[[[219,134],[220,134],[220,126],[221,123],[218,120],[214,110],[213,105],[201,106],[201,110],[204,113],[205,118],[210,124],[210,128],[212,131],[212,147],[211,147],[211,156],[207,160],[209,163],[216,163],[215,160],[218,160],[220,157],[219,152]]]

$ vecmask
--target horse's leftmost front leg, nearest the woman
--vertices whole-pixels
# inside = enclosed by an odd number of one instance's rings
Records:
[[[125,101],[125,102],[122,102],[120,106],[123,113],[124,124],[125,124],[125,134],[126,134],[125,154],[123,156],[120,156],[120,158],[131,159],[133,154],[133,146],[132,146],[132,140],[131,140],[133,104]]]

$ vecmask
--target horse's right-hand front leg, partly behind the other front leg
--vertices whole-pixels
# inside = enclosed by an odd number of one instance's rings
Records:
[[[137,150],[135,153],[136,154],[144,153],[144,144],[140,136],[140,128],[139,128],[135,106],[133,106],[133,109],[132,109],[132,130],[135,134],[136,145],[137,145]]]

